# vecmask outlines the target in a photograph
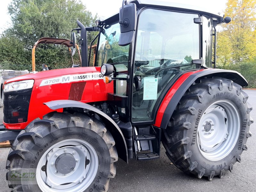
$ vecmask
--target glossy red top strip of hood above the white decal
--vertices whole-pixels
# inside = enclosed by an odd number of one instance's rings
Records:
[[[54,69],[49,71],[40,71],[38,73],[30,73],[22,76],[13,77],[5,81],[5,84],[12,83],[16,81],[28,80],[28,79],[45,79],[56,76],[67,76],[74,74],[84,74],[84,73],[99,73],[100,67],[77,67],[77,68],[63,68],[63,69]]]

